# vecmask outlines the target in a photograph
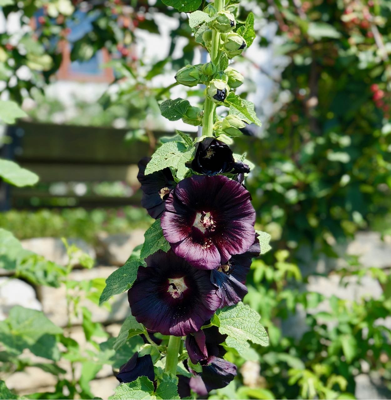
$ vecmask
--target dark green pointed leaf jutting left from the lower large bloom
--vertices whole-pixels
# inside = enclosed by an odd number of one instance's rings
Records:
[[[126,263],[115,270],[107,279],[106,286],[99,298],[99,304],[107,301],[114,294],[120,294],[132,287],[137,278],[138,267],[142,263],[138,261],[126,261]]]

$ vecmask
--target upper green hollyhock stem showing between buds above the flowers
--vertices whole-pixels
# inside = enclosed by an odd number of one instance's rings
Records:
[[[224,8],[225,0],[215,0],[215,8],[221,11]],[[219,63],[220,57],[220,32],[213,29],[211,42],[211,61]],[[204,117],[202,122],[202,136],[212,136],[215,114],[215,103],[207,96],[204,103]]]

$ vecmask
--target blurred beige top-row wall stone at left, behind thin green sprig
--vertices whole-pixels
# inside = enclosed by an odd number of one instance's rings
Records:
[[[21,240],[23,248],[30,250],[34,253],[44,256],[46,260],[55,262],[59,265],[68,264],[68,255],[66,253],[66,248],[62,240],[59,238],[34,238]],[[68,239],[68,244],[74,244],[76,247],[80,248],[81,252],[87,253],[92,259],[95,260],[96,253],[92,246],[87,244],[82,239]],[[72,259],[72,266],[78,265],[78,254]]]

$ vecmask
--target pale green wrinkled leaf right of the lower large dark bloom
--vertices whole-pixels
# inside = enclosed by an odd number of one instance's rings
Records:
[[[239,302],[235,306],[224,307],[217,310],[217,321],[213,324],[219,326],[221,334],[227,334],[239,342],[251,340],[253,343],[268,346],[269,338],[265,328],[259,323],[261,316],[247,304]]]

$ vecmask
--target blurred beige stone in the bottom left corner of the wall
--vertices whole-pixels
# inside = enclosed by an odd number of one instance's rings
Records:
[[[49,372],[42,371],[38,367],[26,367],[23,371],[15,372],[5,379],[8,389],[16,392],[29,390],[30,393],[35,392],[36,388],[44,386],[54,386],[57,379]]]

